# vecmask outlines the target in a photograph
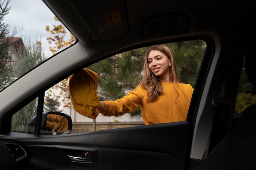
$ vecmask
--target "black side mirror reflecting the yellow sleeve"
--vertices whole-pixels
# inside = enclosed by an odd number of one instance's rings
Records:
[[[28,133],[34,133],[36,116],[27,125]],[[61,112],[43,112],[40,134],[68,134],[72,130],[72,119]]]

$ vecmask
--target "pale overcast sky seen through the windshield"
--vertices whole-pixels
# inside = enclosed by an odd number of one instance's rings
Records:
[[[3,22],[8,24],[11,30],[14,27],[16,27],[16,30],[22,28],[15,36],[21,37],[23,42],[28,38],[33,42],[36,39],[41,39],[45,56],[51,56],[52,53],[49,51],[49,45],[46,40],[50,35],[45,30],[45,27],[48,25],[52,28],[55,23],[52,11],[48,9],[42,0],[11,0],[8,7],[11,7],[11,9],[4,16]]]

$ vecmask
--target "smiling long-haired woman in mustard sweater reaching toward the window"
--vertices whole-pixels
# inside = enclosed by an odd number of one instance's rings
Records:
[[[132,92],[116,101],[101,101],[104,116],[121,116],[141,107],[145,125],[185,121],[193,87],[180,83],[171,50],[151,47],[145,55],[144,76]]]

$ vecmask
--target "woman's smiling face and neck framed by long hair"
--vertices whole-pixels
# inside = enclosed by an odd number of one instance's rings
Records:
[[[170,82],[169,64],[168,57],[160,51],[152,50],[148,54],[148,67],[161,81]]]

